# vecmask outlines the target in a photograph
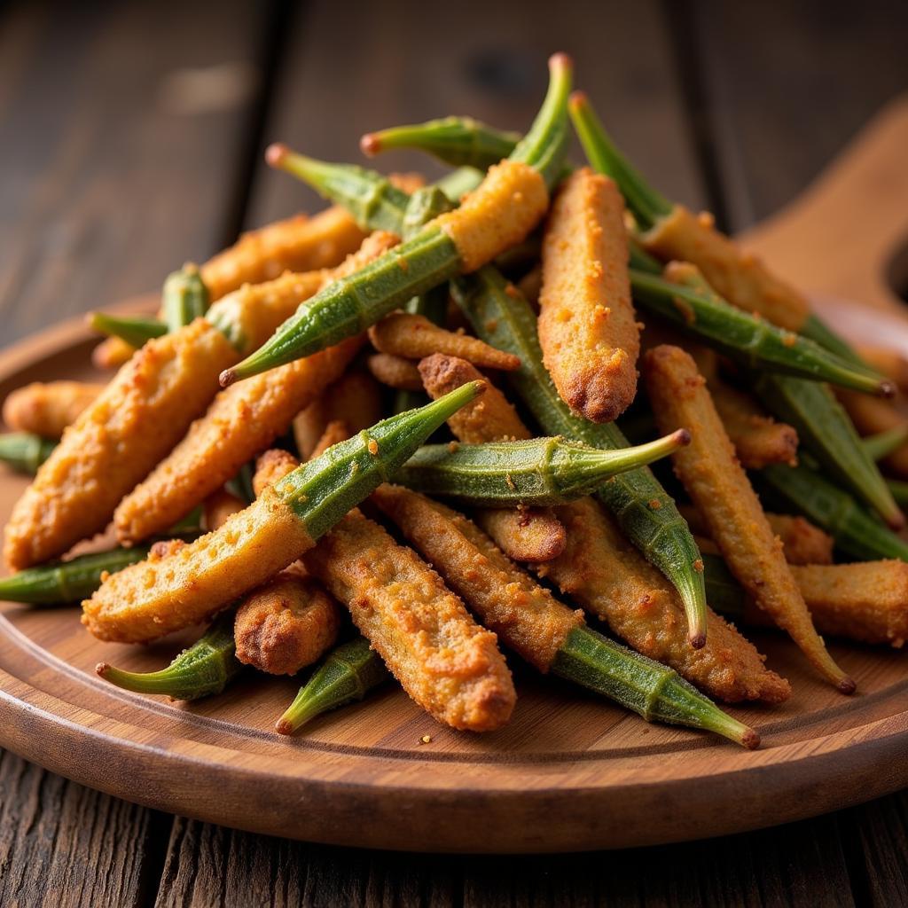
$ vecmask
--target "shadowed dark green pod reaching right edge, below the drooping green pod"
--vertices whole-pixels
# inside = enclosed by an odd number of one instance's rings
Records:
[[[835,539],[852,558],[908,561],[908,543],[896,536],[847,491],[803,463],[774,464],[752,474],[769,505],[803,514]]]

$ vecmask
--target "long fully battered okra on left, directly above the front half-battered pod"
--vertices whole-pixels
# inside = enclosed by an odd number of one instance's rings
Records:
[[[360,338],[220,391],[208,411],[114,514],[122,542],[163,532],[290,428],[293,417],[341,375]]]

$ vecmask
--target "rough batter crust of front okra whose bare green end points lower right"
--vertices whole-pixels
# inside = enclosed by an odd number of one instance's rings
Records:
[[[539,671],[548,671],[568,634],[583,624],[579,612],[558,602],[456,511],[400,486],[381,486],[372,501],[485,627]]]

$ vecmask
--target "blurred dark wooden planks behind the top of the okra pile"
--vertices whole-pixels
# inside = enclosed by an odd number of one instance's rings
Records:
[[[524,129],[555,50],[659,188],[742,230],[908,88],[906,38],[903,0],[0,5],[0,343],[318,207],[271,141],[361,162],[394,123]]]

